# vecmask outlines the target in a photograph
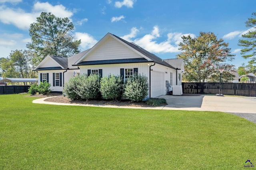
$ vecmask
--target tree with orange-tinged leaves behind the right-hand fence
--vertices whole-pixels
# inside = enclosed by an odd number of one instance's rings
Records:
[[[234,59],[228,43],[224,43],[223,39],[217,39],[214,33],[200,32],[198,37],[182,36],[182,40],[179,44],[182,52],[177,58],[184,61],[185,81],[205,82],[212,76],[214,64]]]

